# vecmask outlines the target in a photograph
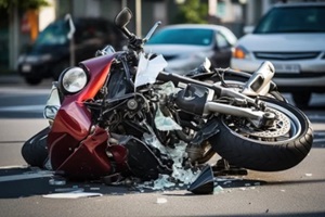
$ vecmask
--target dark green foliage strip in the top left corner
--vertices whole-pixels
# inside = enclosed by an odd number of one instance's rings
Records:
[[[11,7],[17,7],[20,10],[25,11],[47,5],[49,5],[49,3],[46,0],[0,0],[0,8],[4,8],[6,10]]]

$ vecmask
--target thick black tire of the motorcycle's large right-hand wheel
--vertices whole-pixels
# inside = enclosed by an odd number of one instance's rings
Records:
[[[309,153],[313,130],[307,116],[297,107],[274,99],[263,99],[270,107],[289,117],[288,139],[260,141],[235,132],[220,117],[220,132],[210,138],[212,149],[232,165],[259,171],[278,171],[298,165]],[[230,123],[229,123],[230,124]],[[233,128],[236,128],[233,127]],[[280,137],[277,139],[281,139]]]

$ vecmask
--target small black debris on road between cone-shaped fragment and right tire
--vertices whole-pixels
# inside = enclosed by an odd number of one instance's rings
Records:
[[[247,169],[231,165],[226,159],[218,159],[217,164],[212,166],[214,176],[246,176]]]

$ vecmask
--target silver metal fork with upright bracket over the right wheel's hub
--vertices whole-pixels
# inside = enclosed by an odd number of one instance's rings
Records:
[[[176,104],[183,111],[200,116],[211,113],[233,115],[249,119],[257,128],[269,127],[273,125],[275,115],[264,111],[265,106],[258,102],[256,97],[265,95],[269,92],[273,75],[272,63],[264,62],[244,85],[242,92],[220,86],[208,87],[198,82],[187,84],[183,90],[178,92]],[[212,101],[214,91],[219,92],[220,98],[233,99],[234,105]],[[259,106],[261,110],[244,107],[249,104]]]

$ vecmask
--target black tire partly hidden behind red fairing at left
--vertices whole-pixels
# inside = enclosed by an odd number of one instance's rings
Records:
[[[22,148],[22,155],[30,166],[43,168],[48,159],[48,133],[50,128],[47,127],[40,132],[27,140]]]

